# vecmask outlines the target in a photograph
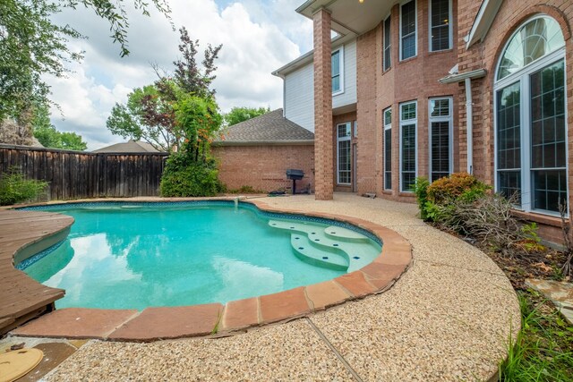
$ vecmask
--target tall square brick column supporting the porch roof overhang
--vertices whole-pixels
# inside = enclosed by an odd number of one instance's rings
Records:
[[[314,198],[331,200],[333,184],[332,147],[332,46],[330,13],[314,13]]]

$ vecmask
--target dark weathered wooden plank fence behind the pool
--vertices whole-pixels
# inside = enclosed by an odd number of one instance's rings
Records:
[[[49,183],[47,198],[158,196],[167,153],[88,153],[0,145],[0,175],[17,166]]]

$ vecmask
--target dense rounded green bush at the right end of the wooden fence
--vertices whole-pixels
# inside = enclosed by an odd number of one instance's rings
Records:
[[[193,162],[183,154],[172,154],[161,177],[161,196],[214,196],[224,190],[218,181],[218,169],[213,160]]]

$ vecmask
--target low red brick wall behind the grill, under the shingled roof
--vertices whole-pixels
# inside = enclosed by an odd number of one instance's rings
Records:
[[[296,189],[303,190],[309,183],[314,189],[314,146],[218,146],[213,155],[219,163],[219,179],[229,190],[252,186],[261,191],[279,188],[290,190],[292,181],[286,179],[286,169],[304,171],[304,178],[296,181]]]

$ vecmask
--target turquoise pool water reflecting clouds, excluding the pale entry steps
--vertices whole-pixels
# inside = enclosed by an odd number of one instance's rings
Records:
[[[345,273],[299,259],[291,234],[270,227],[256,208],[94,205],[62,207],[75,218],[68,239],[25,268],[40,283],[65,289],[57,308],[226,302]]]

